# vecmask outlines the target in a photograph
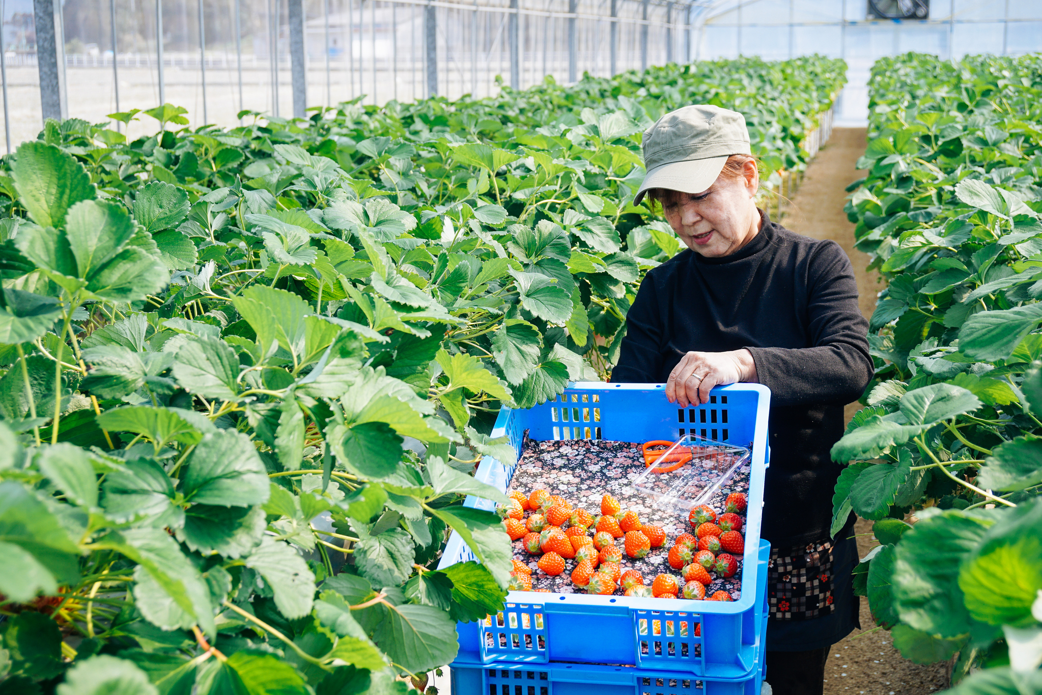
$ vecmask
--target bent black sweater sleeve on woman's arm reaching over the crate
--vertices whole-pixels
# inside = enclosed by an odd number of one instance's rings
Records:
[[[748,347],[760,383],[771,390],[772,406],[850,403],[861,398],[874,372],[858,282],[839,244],[820,245],[809,260],[807,282],[811,347]]]

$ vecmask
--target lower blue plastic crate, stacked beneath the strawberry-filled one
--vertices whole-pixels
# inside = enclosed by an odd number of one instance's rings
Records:
[[[451,669],[453,695],[760,695],[763,685],[759,669],[736,680],[590,664],[456,661]]]

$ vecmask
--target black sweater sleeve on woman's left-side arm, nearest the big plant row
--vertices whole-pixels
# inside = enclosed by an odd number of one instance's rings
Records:
[[[616,383],[651,383],[661,371],[663,325],[661,304],[651,273],[644,277],[637,290],[637,298],[626,314],[622,329],[619,363],[612,370]]]

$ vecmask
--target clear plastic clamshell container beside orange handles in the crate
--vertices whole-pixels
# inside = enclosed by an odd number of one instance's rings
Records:
[[[747,447],[693,435],[685,435],[675,443],[648,442],[644,447],[645,462],[652,463],[630,485],[650,497],[660,510],[684,515],[726,490],[751,455]]]

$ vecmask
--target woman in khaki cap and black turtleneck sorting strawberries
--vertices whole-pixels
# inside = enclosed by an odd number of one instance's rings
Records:
[[[771,390],[763,536],[771,543],[767,681],[820,694],[829,647],[858,624],[852,518],[829,533],[843,405],[872,376],[868,323],[835,242],[771,222],[741,114],[685,106],[644,133],[635,200],[662,205],[687,251],[648,272],[613,381],[666,382],[681,407],[739,381]]]

